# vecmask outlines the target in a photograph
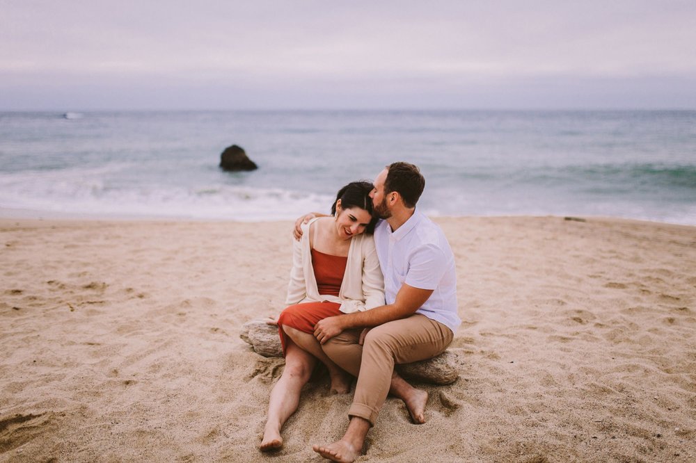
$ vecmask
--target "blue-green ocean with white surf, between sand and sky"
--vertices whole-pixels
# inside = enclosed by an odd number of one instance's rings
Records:
[[[409,161],[431,216],[696,225],[696,111],[0,113],[0,208],[286,220]],[[242,146],[259,165],[223,172]]]

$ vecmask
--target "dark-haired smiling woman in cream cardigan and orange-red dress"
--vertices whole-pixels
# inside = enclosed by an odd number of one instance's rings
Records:
[[[331,216],[303,226],[294,243],[293,266],[278,332],[285,355],[283,375],[271,391],[261,450],[283,445],[280,428],[299,404],[317,360],[326,365],[331,391],[347,393],[351,377],[326,357],[314,325],[328,316],[384,304],[384,284],[372,232],[372,184],[354,181],[338,191]]]

